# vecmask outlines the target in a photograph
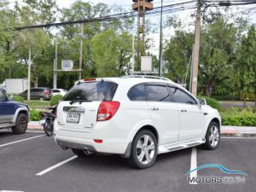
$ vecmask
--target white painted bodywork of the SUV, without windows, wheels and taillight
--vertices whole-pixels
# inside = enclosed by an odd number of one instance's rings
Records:
[[[208,105],[131,101],[127,96],[128,91],[136,84],[168,84],[183,90],[198,102],[188,90],[171,80],[136,77],[96,79],[101,80],[118,84],[112,101],[118,101],[120,104],[112,119],[96,120],[101,101],[72,104],[69,101],[60,102],[54,126],[55,143],[63,148],[86,149],[129,157],[131,143],[137,132],[143,127],[148,127],[156,134],[157,154],[163,154],[205,143],[210,122],[214,120],[221,125],[218,110]],[[70,111],[66,112],[64,108]],[[79,123],[67,123],[67,113],[73,113],[74,108],[76,113],[79,113],[79,110],[81,112]]]

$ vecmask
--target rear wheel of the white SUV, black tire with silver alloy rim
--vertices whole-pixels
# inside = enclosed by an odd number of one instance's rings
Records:
[[[157,140],[154,133],[148,130],[139,131],[131,144],[131,155],[128,163],[138,169],[154,165],[157,156]]]

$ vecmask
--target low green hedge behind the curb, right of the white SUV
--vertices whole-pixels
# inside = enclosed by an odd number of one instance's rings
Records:
[[[250,108],[241,112],[237,108],[232,108],[229,112],[221,113],[221,117],[222,125],[256,126],[256,113]]]

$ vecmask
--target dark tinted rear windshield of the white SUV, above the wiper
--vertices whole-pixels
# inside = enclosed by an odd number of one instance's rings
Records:
[[[112,101],[118,84],[108,81],[93,81],[75,84],[67,91],[64,101]]]

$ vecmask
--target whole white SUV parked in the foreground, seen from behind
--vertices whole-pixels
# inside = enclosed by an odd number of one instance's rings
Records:
[[[79,157],[120,154],[148,168],[157,154],[203,144],[218,147],[218,110],[169,79],[79,80],[57,108],[55,143]]]

